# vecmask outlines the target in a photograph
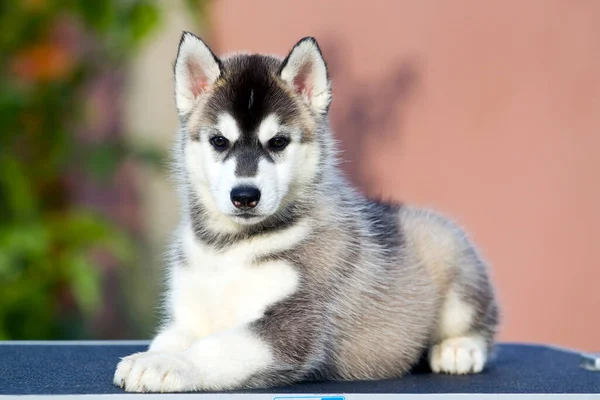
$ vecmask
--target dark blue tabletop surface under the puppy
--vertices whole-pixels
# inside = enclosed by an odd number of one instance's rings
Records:
[[[0,345],[0,394],[120,393],[112,377],[132,345]],[[600,372],[580,366],[579,355],[544,346],[500,345],[479,375],[427,371],[367,382],[307,382],[254,393],[600,393]]]

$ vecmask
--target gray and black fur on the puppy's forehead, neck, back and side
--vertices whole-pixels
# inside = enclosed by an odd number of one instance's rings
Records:
[[[311,377],[400,376],[446,339],[439,328],[440,310],[451,291],[474,310],[462,333],[481,335],[491,347],[497,306],[485,262],[464,232],[433,212],[374,202],[353,189],[338,166],[328,115],[307,113],[301,100],[286,90],[277,78],[280,60],[238,55],[222,63],[214,94],[195,111],[200,117],[181,118],[174,159],[182,226],[191,222],[197,240],[219,251],[289,229],[299,221],[311,227],[309,238],[295,248],[255,260],[256,265],[286,260],[299,271],[301,283],[292,296],[252,324],[272,347],[277,362],[243,386],[275,386]],[[273,216],[235,233],[208,227],[207,210],[181,164],[187,141],[198,140],[200,128],[214,123],[223,110],[235,116],[244,135],[236,150],[243,154],[237,158],[239,175],[253,176],[257,160],[268,156],[254,136],[268,113],[301,125],[303,143],[320,149],[318,172],[309,184],[298,188]],[[439,241],[447,250],[435,250]],[[428,248],[435,251],[423,253]],[[181,257],[177,252],[175,258]]]

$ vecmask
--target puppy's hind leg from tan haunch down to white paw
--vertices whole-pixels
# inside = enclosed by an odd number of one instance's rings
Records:
[[[427,269],[441,297],[429,364],[434,372],[481,372],[498,324],[486,265],[465,232],[425,209],[406,207],[400,222],[407,246]]]

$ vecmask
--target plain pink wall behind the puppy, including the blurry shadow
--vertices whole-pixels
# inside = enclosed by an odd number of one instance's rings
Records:
[[[466,226],[501,339],[600,349],[600,1],[219,0],[211,23],[219,52],[316,36],[353,180]]]

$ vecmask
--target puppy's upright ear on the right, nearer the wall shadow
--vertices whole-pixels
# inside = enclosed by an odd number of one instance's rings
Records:
[[[292,48],[279,71],[317,115],[325,114],[331,103],[327,64],[315,38],[306,37]]]

